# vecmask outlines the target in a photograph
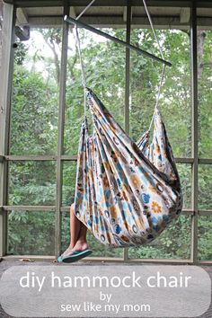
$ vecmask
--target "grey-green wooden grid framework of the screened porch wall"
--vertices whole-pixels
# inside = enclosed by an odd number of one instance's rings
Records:
[[[62,166],[63,161],[77,161],[77,155],[63,155],[64,119],[66,105],[66,63],[67,63],[67,41],[68,23],[63,22],[63,40],[61,56],[61,74],[59,88],[58,107],[58,134],[57,134],[57,155],[9,155],[9,136],[11,118],[11,99],[13,84],[13,42],[16,7],[13,4],[4,4],[4,26],[3,26],[3,52],[2,74],[4,80],[0,86],[1,104],[1,126],[0,126],[0,256],[5,260],[20,258],[20,255],[6,255],[7,251],[7,214],[11,210],[41,210],[54,211],[56,216],[55,224],[55,255],[41,256],[33,255],[35,260],[53,260],[57,258],[61,246],[61,214],[69,211],[70,207],[62,206]],[[64,15],[69,13],[69,4],[64,5]],[[131,6],[127,6],[126,40],[130,42],[131,30]],[[139,259],[128,258],[128,248],[124,249],[123,258],[101,258],[90,257],[89,261],[121,261],[121,262],[161,262],[161,263],[191,263],[191,264],[212,264],[211,261],[200,261],[198,259],[198,217],[212,215],[212,210],[201,210],[198,207],[199,164],[212,164],[212,158],[199,158],[198,151],[198,57],[197,57],[197,6],[194,2],[190,4],[190,69],[191,69],[191,158],[175,158],[176,163],[191,164],[191,208],[183,209],[182,214],[191,216],[191,242],[190,259],[188,260],[167,260],[167,259]],[[126,49],[126,70],[125,70],[125,131],[129,133],[129,49]],[[56,168],[56,206],[8,206],[7,186],[8,186],[8,163],[15,160],[55,160]],[[26,255],[29,258],[29,255]]]

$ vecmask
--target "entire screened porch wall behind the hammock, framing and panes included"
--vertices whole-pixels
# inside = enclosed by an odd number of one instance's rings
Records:
[[[82,7],[77,6],[68,8],[68,13],[69,9],[70,14],[76,16],[82,11]],[[208,20],[204,24],[202,18],[203,25],[197,33],[199,91],[195,95],[195,87],[192,89],[191,85],[190,8],[183,11],[183,16],[179,7],[150,9],[153,15],[158,14],[155,31],[165,59],[172,62],[172,68],[166,67],[159,108],[181,177],[183,211],[148,245],[109,249],[90,233],[88,241],[93,256],[100,260],[105,257],[119,261],[212,261],[209,248],[212,31],[208,31]],[[141,7],[132,8],[131,26],[126,19],[126,8],[114,5],[101,10],[104,10],[104,16],[98,12],[98,7],[91,7],[85,13],[85,22],[120,40],[126,40],[131,27],[130,42],[160,56]],[[0,98],[7,105],[7,117],[1,118],[3,134],[0,140],[0,172],[5,177],[1,179],[4,187],[0,193],[0,225],[4,229],[0,252],[3,254],[55,258],[66,249],[70,240],[69,207],[75,196],[84,96],[73,27],[63,22],[63,13],[67,13],[66,8],[59,6],[18,7],[15,32],[16,35],[25,32],[26,39],[15,38],[13,63],[2,66],[6,80],[0,88]],[[202,16],[204,12],[198,9],[197,13]],[[10,17],[6,30],[10,30],[13,12],[6,14]],[[96,19],[94,14],[99,14]],[[178,17],[174,23],[172,14]],[[29,39],[27,25],[31,26]],[[9,41],[11,34],[4,39]],[[101,98],[128,135],[137,141],[149,128],[152,119],[162,65],[138,56],[134,51],[128,55],[124,47],[89,31],[80,29],[79,36],[88,87]],[[10,52],[10,44],[6,43],[3,49],[4,58],[6,52]],[[10,92],[11,84],[13,92]],[[198,96],[194,103],[192,94]],[[192,116],[194,108],[197,118]],[[92,117],[91,114],[87,116],[92,134]],[[197,146],[198,152],[195,152]],[[197,246],[191,241],[195,237]]]

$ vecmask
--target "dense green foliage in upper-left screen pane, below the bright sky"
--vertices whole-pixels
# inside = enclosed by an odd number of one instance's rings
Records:
[[[14,68],[11,155],[53,155],[57,149],[55,84],[39,73]]]

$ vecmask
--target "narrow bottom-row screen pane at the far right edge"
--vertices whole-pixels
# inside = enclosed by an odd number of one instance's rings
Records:
[[[198,216],[198,259],[212,261],[212,215]]]

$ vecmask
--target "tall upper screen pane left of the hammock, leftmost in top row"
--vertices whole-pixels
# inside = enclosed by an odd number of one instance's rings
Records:
[[[16,43],[10,154],[56,154],[61,28],[33,28]]]

